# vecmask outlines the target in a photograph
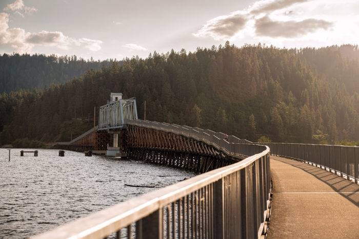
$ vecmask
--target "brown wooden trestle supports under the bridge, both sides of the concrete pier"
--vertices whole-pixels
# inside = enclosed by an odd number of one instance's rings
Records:
[[[237,158],[228,157],[223,151],[204,141],[131,123],[111,131],[93,130],[72,142],[59,143],[57,147],[79,152],[106,150],[107,145],[111,146],[113,143],[114,133],[119,135],[121,153],[133,160],[195,172],[207,172],[238,162]]]

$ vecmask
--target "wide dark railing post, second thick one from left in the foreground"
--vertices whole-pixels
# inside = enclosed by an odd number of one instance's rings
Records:
[[[214,183],[214,238],[224,238],[223,178]]]

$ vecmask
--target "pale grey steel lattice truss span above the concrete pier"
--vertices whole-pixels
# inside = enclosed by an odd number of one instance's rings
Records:
[[[99,108],[98,129],[119,128],[137,119],[136,99],[120,99]]]

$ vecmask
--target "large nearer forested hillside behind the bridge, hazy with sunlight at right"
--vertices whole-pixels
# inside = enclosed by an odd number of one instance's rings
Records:
[[[297,50],[227,42],[127,59],[43,92],[3,93],[0,144],[26,137],[69,140],[91,127],[93,107],[105,104],[110,92],[136,97],[139,118],[146,100],[149,120],[249,140],[359,140],[356,56],[353,46]]]

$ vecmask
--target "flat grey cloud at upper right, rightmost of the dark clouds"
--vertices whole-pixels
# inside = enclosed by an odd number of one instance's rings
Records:
[[[268,16],[255,21],[255,33],[259,36],[298,37],[315,32],[318,29],[327,30],[332,23],[325,20],[305,19],[302,21],[275,21]]]

